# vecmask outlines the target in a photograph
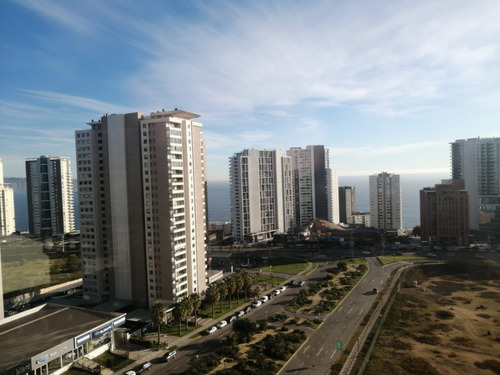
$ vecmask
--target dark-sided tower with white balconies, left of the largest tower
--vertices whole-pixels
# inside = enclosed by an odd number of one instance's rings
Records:
[[[75,229],[73,180],[67,157],[26,159],[30,234],[45,238]]]

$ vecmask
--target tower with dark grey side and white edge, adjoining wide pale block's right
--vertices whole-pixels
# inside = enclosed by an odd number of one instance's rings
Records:
[[[324,146],[292,147],[295,221],[305,226],[314,219],[339,222],[338,176],[330,168],[329,150]]]

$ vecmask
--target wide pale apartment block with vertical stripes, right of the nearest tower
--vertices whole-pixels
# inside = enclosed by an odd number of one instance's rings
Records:
[[[257,242],[295,226],[289,157],[279,150],[243,150],[229,158],[233,239]]]

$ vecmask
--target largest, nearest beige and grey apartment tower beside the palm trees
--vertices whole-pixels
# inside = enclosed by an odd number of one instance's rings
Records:
[[[206,289],[198,117],[114,114],[76,131],[84,298],[151,307]]]

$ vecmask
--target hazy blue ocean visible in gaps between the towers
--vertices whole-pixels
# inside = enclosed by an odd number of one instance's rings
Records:
[[[449,177],[444,174],[401,175],[404,228],[414,228],[420,225],[419,191],[424,187],[434,186],[445,178]],[[356,210],[370,210],[368,176],[341,176],[339,177],[339,186],[355,186]],[[14,192],[14,204],[16,229],[27,230],[29,224],[26,191]],[[75,213],[77,212],[78,196],[75,194]],[[228,181],[208,181],[208,220],[231,220]],[[78,215],[75,215],[75,226],[77,229],[79,228]]]

